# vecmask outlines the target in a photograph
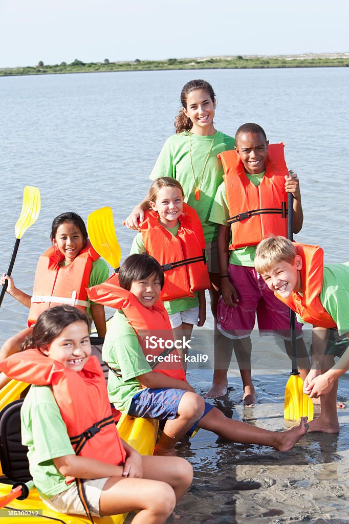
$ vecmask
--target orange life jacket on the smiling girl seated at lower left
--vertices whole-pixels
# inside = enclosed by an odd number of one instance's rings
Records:
[[[77,455],[114,465],[125,462],[97,357],[91,356],[83,369],[75,372],[38,350],[27,350],[6,358],[0,369],[10,378],[52,387]]]

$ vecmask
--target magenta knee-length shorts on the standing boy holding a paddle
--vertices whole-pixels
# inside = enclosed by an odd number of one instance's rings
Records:
[[[243,339],[252,332],[257,313],[260,335],[276,334],[290,340],[289,309],[276,298],[255,268],[229,264],[228,275],[239,301],[236,308],[231,308],[222,296],[219,298],[219,330],[231,339]],[[302,324],[297,321],[296,333],[298,338],[302,336]]]

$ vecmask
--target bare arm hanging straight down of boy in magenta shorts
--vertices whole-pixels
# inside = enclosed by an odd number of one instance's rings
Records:
[[[236,289],[228,278],[228,267],[229,267],[229,243],[230,243],[230,227],[223,224],[218,225],[218,236],[217,236],[217,250],[218,250],[218,262],[220,265],[221,272],[221,286],[222,286],[222,297],[227,305],[236,308],[236,302],[238,302],[238,296]],[[234,301],[232,299],[234,297]]]

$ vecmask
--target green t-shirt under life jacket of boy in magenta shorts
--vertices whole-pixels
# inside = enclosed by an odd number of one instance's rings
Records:
[[[264,174],[265,171],[259,174],[246,173],[246,176],[248,180],[250,180],[254,185],[258,186],[262,181]],[[229,217],[230,214],[225,194],[225,184],[222,182],[220,187],[217,189],[217,193],[212,204],[210,220],[215,224],[222,224],[230,227],[230,225],[227,223],[227,219]],[[253,267],[255,264],[256,249],[257,246],[246,246],[232,249],[229,255],[229,264],[234,264],[234,266]]]

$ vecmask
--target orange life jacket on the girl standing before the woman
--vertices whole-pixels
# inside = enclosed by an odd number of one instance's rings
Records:
[[[176,236],[159,223],[155,211],[146,211],[140,231],[149,255],[156,258],[165,275],[161,300],[193,297],[193,291],[210,289],[205,240],[197,212],[183,204]]]

